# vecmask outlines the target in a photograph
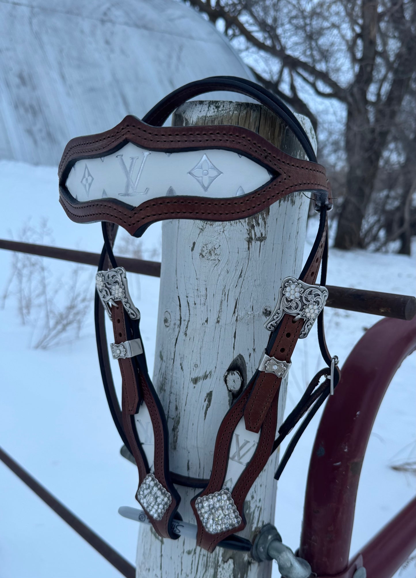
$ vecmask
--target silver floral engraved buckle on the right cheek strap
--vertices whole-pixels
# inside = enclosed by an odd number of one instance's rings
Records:
[[[281,284],[277,305],[265,323],[265,328],[274,331],[285,313],[304,319],[299,339],[305,338],[315,319],[324,309],[328,289],[322,285],[309,285],[295,277],[286,277]]]

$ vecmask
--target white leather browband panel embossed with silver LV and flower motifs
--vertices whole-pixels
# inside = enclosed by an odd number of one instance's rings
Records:
[[[106,157],[77,161],[66,188],[79,202],[113,198],[136,207],[175,195],[239,197],[271,177],[257,162],[228,150],[163,153],[127,143]]]

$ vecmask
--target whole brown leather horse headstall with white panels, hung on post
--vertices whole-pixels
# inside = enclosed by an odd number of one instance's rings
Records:
[[[236,126],[161,127],[182,102],[213,90],[242,92],[273,110],[289,125],[310,160],[290,157],[254,132]],[[244,500],[248,491],[278,443],[307,409],[311,408],[308,416],[312,416],[314,407],[329,392],[328,378],[318,385],[321,376],[329,375],[327,368],[315,376],[274,439],[281,380],[290,368],[297,340],[306,337],[316,319],[322,356],[332,367],[331,391],[339,380],[339,370],[333,367],[326,348],[322,317],[328,296],[324,287],[326,212],[332,207],[325,169],[317,164],[302,126],[277,97],[250,81],[214,77],[172,92],[142,121],[128,116],[107,132],[71,140],[62,156],[59,176],[60,202],[68,216],[80,223],[103,221],[105,247],[96,275],[98,355],[114,422],[138,466],[136,499],[155,531],[176,539],[173,521],[179,517],[180,495],[175,484],[202,488],[191,501],[198,545],[213,551],[218,544],[231,547],[232,539],[233,547],[241,549],[247,540],[235,533],[246,525]],[[299,278],[283,280],[276,307],[265,324],[271,333],[258,370],[222,420],[210,478],[198,480],[171,472],[166,416],[148,375],[140,313],[129,295],[125,270],[117,267],[113,255],[116,228],[110,223],[140,236],[154,221],[168,218],[235,220],[295,191],[313,192],[315,208],[320,212],[309,258]],[[105,269],[108,260],[112,265],[109,271]],[[318,286],[315,281],[321,262]],[[113,323],[111,350],[122,376],[121,410],[114,388],[110,391],[112,379],[99,300]],[[306,427],[308,416],[299,431]],[[249,451],[239,451],[242,436]]]

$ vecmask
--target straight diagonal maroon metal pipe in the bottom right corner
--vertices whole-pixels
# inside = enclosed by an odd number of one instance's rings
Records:
[[[361,550],[367,578],[391,578],[416,548],[416,498]]]

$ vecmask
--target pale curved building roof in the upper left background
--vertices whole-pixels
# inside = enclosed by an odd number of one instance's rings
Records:
[[[142,117],[174,88],[215,74],[250,77],[184,3],[3,0],[0,158],[58,164],[73,136]]]

